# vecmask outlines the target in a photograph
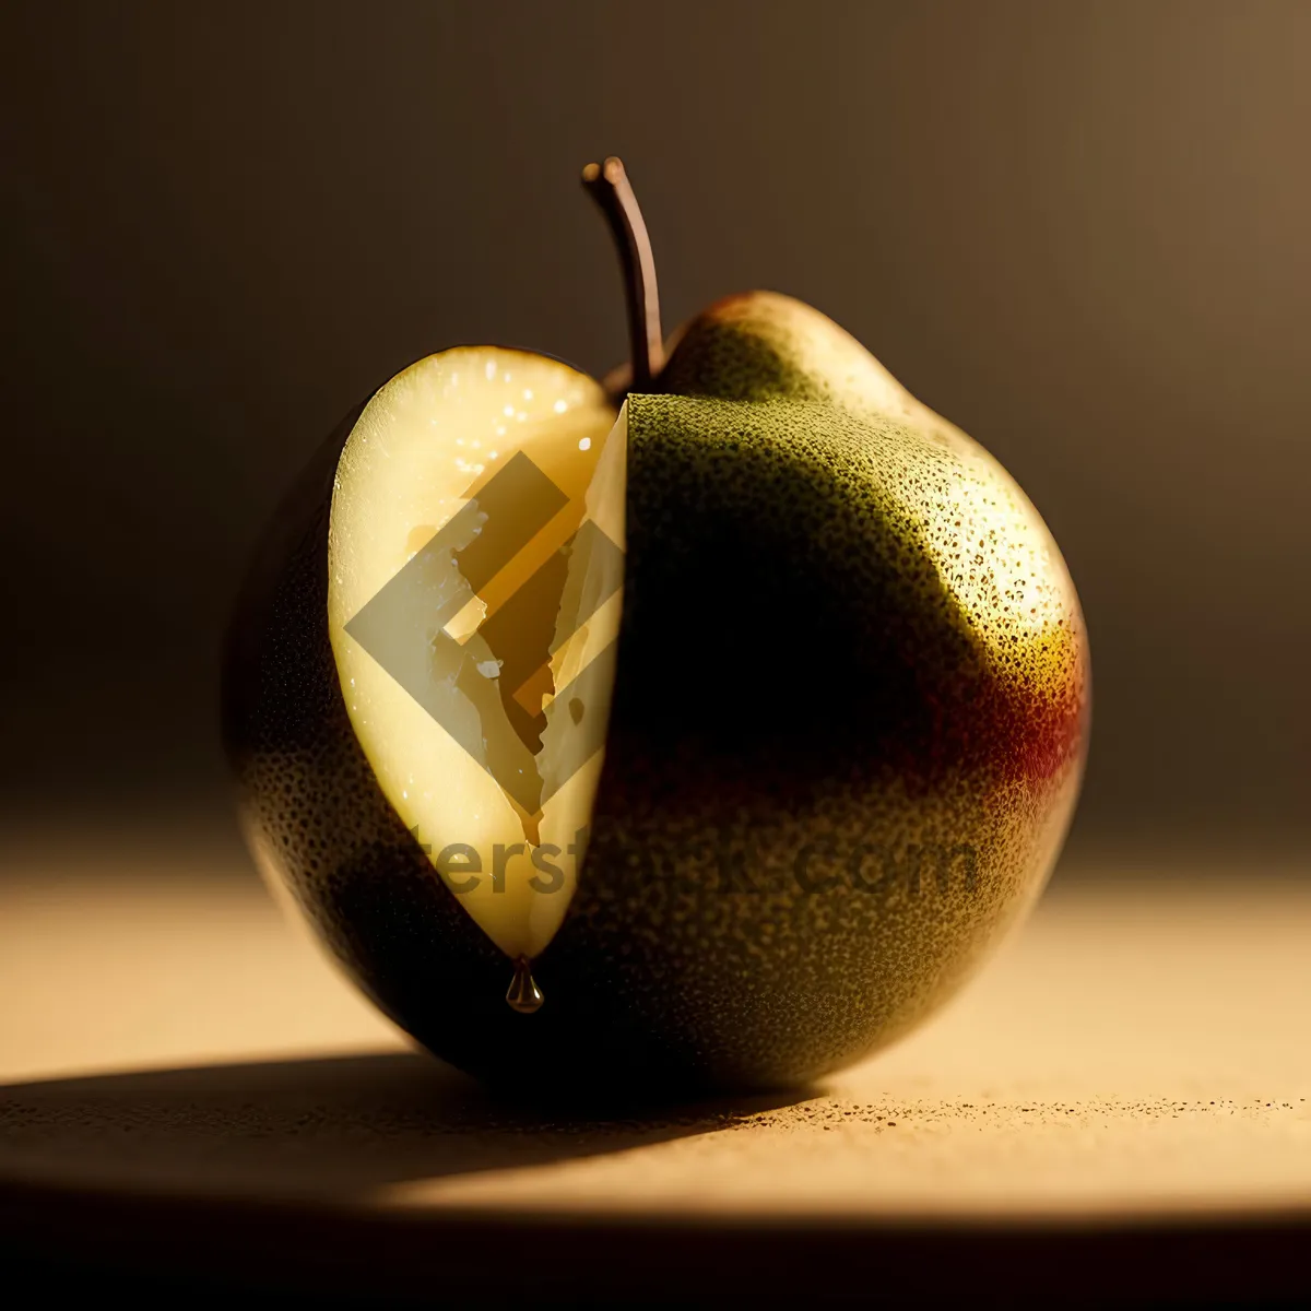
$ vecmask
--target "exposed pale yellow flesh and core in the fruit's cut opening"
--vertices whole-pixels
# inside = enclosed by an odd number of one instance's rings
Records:
[[[439,877],[507,956],[555,936],[604,755],[625,425],[541,355],[393,378],[342,450],[328,624],[351,725]]]

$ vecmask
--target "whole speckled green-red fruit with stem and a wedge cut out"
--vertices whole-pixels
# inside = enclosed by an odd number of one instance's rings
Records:
[[[243,826],[471,1072],[796,1084],[931,1013],[1041,891],[1079,602],[1006,471],[815,309],[733,296],[666,359],[623,168],[585,181],[629,374],[458,347],[346,417],[231,629]]]

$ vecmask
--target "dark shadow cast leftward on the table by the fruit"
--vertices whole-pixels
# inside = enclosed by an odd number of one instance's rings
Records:
[[[714,1133],[813,1096],[528,1106],[417,1053],[10,1084],[0,1184],[346,1202]]]

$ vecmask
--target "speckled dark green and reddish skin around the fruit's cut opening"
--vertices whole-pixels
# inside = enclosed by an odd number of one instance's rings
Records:
[[[734,355],[734,312],[711,334],[729,395],[779,351],[747,315]],[[707,389],[686,366],[669,376]],[[349,421],[266,545],[225,694],[246,830],[361,986],[458,1066],[528,1095],[810,1079],[949,996],[1050,872],[1087,650],[1041,520],[945,425],[861,413],[787,361],[780,387],[812,399],[629,399],[606,766],[532,1016],[342,704],[325,547]],[[983,606],[979,572],[1003,585]]]

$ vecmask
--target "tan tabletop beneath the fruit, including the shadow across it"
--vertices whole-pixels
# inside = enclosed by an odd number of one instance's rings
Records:
[[[1067,880],[945,1012],[822,1088],[535,1109],[414,1053],[232,848],[30,844],[0,878],[0,1197],[33,1242],[134,1206],[434,1240],[535,1218],[1306,1240],[1308,948],[1307,878]]]

